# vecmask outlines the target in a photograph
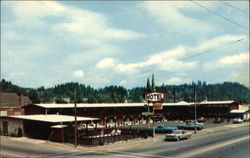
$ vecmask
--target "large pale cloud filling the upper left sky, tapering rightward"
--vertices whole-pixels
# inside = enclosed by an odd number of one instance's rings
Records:
[[[7,29],[39,28],[90,46],[110,40],[131,40],[145,36],[132,30],[114,28],[103,14],[60,2],[26,1],[7,4],[15,15],[14,21],[3,23]]]

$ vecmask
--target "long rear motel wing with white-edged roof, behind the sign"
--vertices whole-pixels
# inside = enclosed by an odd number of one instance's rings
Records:
[[[159,121],[194,119],[195,108],[197,118],[223,117],[232,119],[232,110],[239,109],[235,101],[204,101],[199,103],[163,103],[160,110],[153,110],[153,104],[115,103],[115,104],[77,104],[77,116],[100,118],[103,126],[127,126],[152,122],[154,115],[161,115]],[[74,115],[74,104],[30,104],[24,106],[25,115],[62,114]]]

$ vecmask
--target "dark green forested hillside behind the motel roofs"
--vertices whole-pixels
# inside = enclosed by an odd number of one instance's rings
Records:
[[[147,85],[149,86],[149,85]],[[0,82],[1,92],[16,92],[30,97],[34,103],[57,102],[68,103],[123,103],[142,102],[143,93],[148,87],[135,87],[126,89],[122,86],[107,86],[95,89],[89,85],[76,82],[59,84],[51,88],[39,87],[37,89],[22,88],[13,85],[4,79]],[[236,100],[241,103],[250,103],[250,90],[237,82],[224,82],[206,84],[198,81],[192,84],[162,85],[156,86],[156,91],[165,92],[168,95],[166,102],[194,101],[196,91],[197,101]],[[76,96],[76,97],[75,97]]]

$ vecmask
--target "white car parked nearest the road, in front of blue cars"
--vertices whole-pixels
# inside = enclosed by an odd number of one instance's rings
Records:
[[[171,134],[165,135],[165,140],[176,140],[179,141],[181,139],[189,139],[192,136],[192,132],[184,131],[184,130],[174,130]]]

